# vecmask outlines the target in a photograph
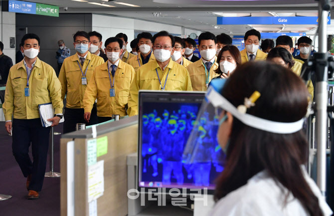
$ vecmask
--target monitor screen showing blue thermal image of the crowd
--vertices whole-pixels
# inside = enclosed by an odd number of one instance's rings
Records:
[[[221,164],[187,164],[182,160],[194,125],[206,129],[202,157],[217,158],[215,154],[222,152],[205,148],[207,143],[217,142],[218,127],[196,121],[204,96],[204,92],[140,91],[138,188],[214,190],[214,181],[223,170]]]

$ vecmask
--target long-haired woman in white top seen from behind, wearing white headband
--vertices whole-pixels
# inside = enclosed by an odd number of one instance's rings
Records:
[[[206,93],[221,110],[217,140],[226,153],[210,215],[332,215],[304,166],[309,101],[302,79],[280,65],[249,62],[215,88],[223,81],[211,81]]]

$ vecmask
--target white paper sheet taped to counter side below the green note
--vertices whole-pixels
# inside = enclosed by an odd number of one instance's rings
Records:
[[[104,160],[88,166],[88,202],[103,196],[104,192]]]

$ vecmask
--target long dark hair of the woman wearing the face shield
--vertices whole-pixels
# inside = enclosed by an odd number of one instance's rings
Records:
[[[288,68],[266,61],[240,65],[221,94],[237,107],[254,91],[259,91],[261,96],[256,105],[247,110],[248,114],[277,122],[296,122],[306,115],[308,91],[303,81]],[[217,179],[215,200],[246,185],[254,175],[266,170],[311,216],[323,216],[318,198],[301,169],[307,155],[308,143],[302,131],[276,134],[249,127],[234,118],[226,166]]]

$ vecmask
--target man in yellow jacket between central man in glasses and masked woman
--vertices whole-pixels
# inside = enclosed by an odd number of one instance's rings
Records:
[[[206,91],[212,78],[219,76],[214,71],[218,68],[217,38],[211,32],[201,33],[198,37],[201,58],[187,66],[192,89]]]

